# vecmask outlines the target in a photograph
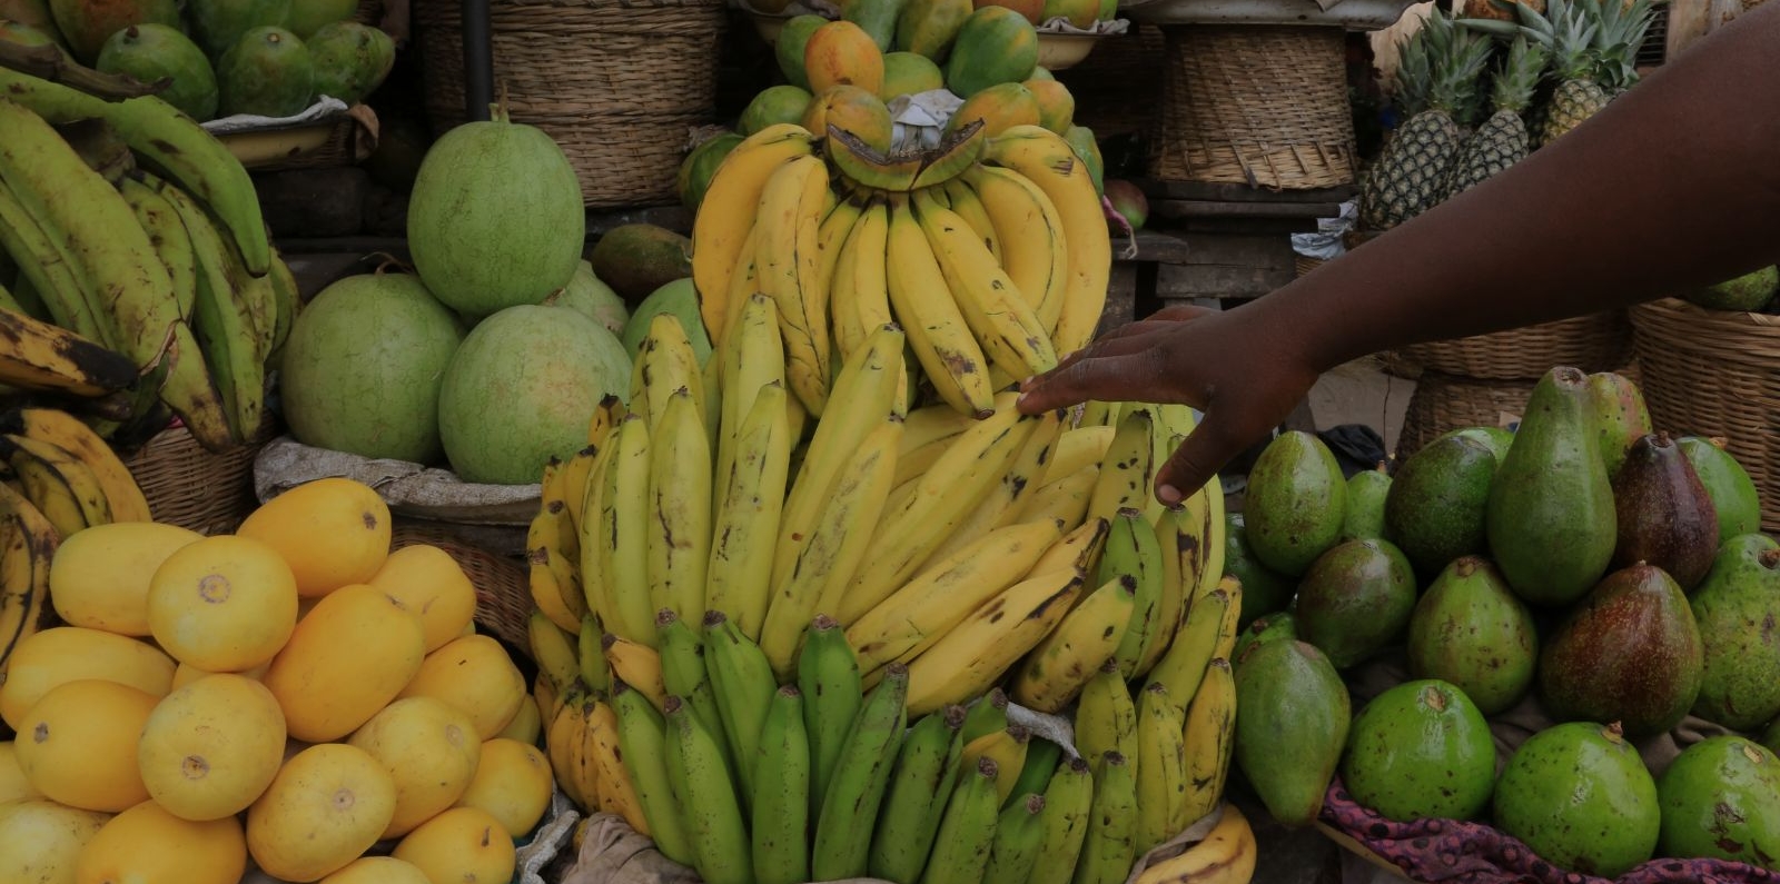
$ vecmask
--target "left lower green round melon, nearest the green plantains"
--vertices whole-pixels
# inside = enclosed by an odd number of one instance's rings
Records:
[[[349,276],[290,327],[285,422],[304,445],[436,464],[440,381],[463,325],[413,274]]]

